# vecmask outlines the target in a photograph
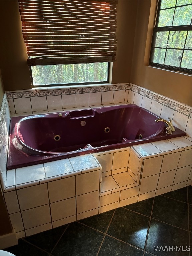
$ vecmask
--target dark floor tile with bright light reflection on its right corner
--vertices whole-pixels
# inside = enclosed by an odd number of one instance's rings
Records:
[[[144,249],[148,225],[148,217],[125,208],[118,208],[107,234]]]

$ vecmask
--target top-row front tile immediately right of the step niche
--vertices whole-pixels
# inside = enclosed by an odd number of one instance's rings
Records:
[[[152,157],[144,160],[142,177],[160,173],[163,156]]]

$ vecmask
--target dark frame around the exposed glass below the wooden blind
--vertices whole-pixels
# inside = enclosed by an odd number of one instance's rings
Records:
[[[89,63],[88,63],[89,64]],[[70,64],[63,64],[63,65],[70,65]],[[108,62],[108,73],[107,73],[107,81],[101,81],[101,82],[82,82],[82,83],[61,83],[61,84],[40,84],[40,85],[34,85],[33,83],[33,75],[32,75],[32,70],[31,70],[31,66],[29,66],[29,72],[30,72],[30,77],[31,77],[31,84],[32,84],[32,88],[38,88],[38,87],[56,87],[56,86],[81,86],[81,85],[94,85],[94,84],[108,84],[109,83],[109,79],[110,79],[110,62]]]

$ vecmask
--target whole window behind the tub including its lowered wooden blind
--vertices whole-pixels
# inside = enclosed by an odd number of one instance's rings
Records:
[[[115,0],[18,0],[33,85],[108,82]]]

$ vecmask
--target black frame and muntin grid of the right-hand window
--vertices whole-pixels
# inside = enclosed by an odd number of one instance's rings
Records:
[[[185,4],[185,5],[182,5],[182,6],[188,6],[188,5],[189,4]],[[191,28],[192,28],[192,24],[190,24],[190,25],[179,25],[179,26],[157,27],[157,24],[159,22],[159,17],[160,17],[160,6],[161,6],[161,0],[158,0],[157,1],[157,7],[156,7],[155,23],[154,23],[154,28],[153,28],[153,36],[152,36],[152,42],[151,42],[149,66],[158,67],[158,68],[162,68],[162,69],[166,69],[166,70],[177,71],[177,72],[181,72],[181,73],[184,73],[184,74],[192,74],[192,69],[170,66],[170,65],[166,65],[166,64],[160,64],[160,63],[155,63],[155,62],[152,61],[153,56],[154,56],[154,49],[155,49],[154,47],[155,47],[156,32],[159,32],[159,31],[190,31]],[[175,14],[175,11],[174,11],[174,14]],[[174,16],[173,16],[173,19],[174,19]],[[188,34],[188,32],[187,32],[187,34]],[[186,40],[187,40],[187,35],[186,35],[186,38],[185,38],[185,43],[186,43]],[[184,47],[185,47],[185,43],[184,43]],[[183,58],[183,53],[184,53],[184,49],[185,49],[184,47],[179,48],[179,50],[183,51],[182,52],[182,58]],[[165,49],[171,49],[171,48],[165,48]],[[181,63],[182,63],[182,58],[181,58],[180,66],[181,66]]]

